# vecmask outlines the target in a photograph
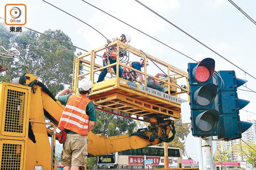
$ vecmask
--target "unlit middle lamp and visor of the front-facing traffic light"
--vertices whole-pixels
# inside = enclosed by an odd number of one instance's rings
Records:
[[[217,95],[217,86],[213,83],[203,85],[195,91],[194,100],[200,106],[208,106]]]

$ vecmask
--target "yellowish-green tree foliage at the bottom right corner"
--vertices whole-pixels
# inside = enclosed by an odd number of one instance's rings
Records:
[[[233,149],[238,152],[240,156],[245,157],[246,161],[249,162],[249,164],[253,165],[253,168],[256,167],[256,144],[253,142],[250,142],[248,144],[239,141],[236,142],[235,145],[232,146]]]

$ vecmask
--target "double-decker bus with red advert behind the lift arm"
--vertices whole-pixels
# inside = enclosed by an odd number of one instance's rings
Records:
[[[169,168],[182,167],[180,148],[168,147]],[[129,149],[98,156],[98,169],[164,168],[164,147]]]

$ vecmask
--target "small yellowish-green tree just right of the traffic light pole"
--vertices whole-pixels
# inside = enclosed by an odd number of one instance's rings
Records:
[[[225,147],[225,142],[218,142],[216,152],[214,154],[214,160],[221,164],[221,170],[223,170],[223,162],[229,161],[230,149]]]

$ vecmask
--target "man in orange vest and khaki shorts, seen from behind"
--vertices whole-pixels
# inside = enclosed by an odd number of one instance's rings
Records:
[[[66,88],[55,99],[65,105],[58,128],[67,131],[63,143],[61,165],[63,170],[79,170],[87,161],[88,132],[92,130],[96,119],[95,107],[88,95],[92,90],[91,80],[84,78],[79,82],[78,95]]]

